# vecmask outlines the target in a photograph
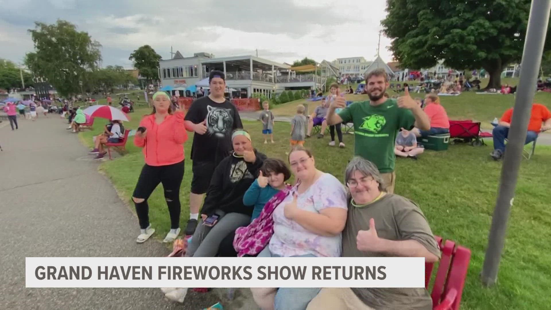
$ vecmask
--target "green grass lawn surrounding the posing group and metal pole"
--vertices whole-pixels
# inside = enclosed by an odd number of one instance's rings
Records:
[[[349,96],[359,98],[360,95]],[[491,120],[512,104],[512,98],[507,95],[464,93],[458,97],[442,98],[442,101],[451,118]],[[551,107],[551,94],[538,93],[536,98]],[[298,102],[286,105],[296,106]],[[280,105],[277,109],[284,106]],[[126,127],[136,129],[140,115],[145,113],[149,113],[149,109],[137,109],[131,114],[132,121],[125,124]],[[91,146],[91,137],[102,131],[101,124],[98,122],[94,131],[79,134],[87,145]],[[259,122],[244,122],[244,125],[251,132],[253,143],[259,151],[268,157],[287,158],[289,124],[276,124],[274,145],[262,143]],[[186,158],[190,156],[192,137],[190,134],[185,145]],[[345,135],[347,148],[344,149],[328,147],[328,137],[319,140],[311,138],[306,146],[314,152],[318,169],[342,180],[344,167],[353,155],[353,139],[353,135]],[[491,141],[487,142],[491,145]],[[140,149],[133,146],[132,138],[127,149],[129,153],[126,156],[114,161],[106,160],[99,169],[111,179],[123,199],[131,203],[132,191],[144,162]],[[472,250],[462,309],[547,309],[551,304],[551,295],[545,293],[551,287],[548,242],[551,234],[551,147],[539,145],[530,161],[522,161],[498,284],[484,288],[480,284],[479,273],[501,170],[501,162],[489,158],[490,151],[491,146],[452,145],[444,152],[426,151],[418,161],[399,158],[396,193],[417,202],[435,234],[455,240]],[[190,168],[191,161],[186,159],[180,193],[181,227],[185,226],[189,212]],[[156,229],[155,238],[162,239],[168,232],[170,222],[161,186],[150,197],[149,207],[150,221]]]

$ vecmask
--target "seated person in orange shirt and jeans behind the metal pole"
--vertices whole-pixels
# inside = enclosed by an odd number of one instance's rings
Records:
[[[496,161],[503,157],[505,153],[505,138],[509,135],[509,127],[511,127],[511,119],[513,109],[505,111],[499,125],[494,127],[492,131],[494,135],[494,151],[490,156]],[[551,112],[547,106],[539,103],[532,104],[532,113],[530,115],[530,123],[528,123],[528,132],[526,133],[526,142],[530,143],[536,140],[539,132],[551,129]]]

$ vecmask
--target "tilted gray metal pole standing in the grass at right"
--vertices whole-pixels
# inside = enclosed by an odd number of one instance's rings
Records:
[[[495,284],[498,278],[499,261],[505,242],[507,220],[515,195],[518,168],[522,160],[522,149],[526,140],[550,10],[551,0],[532,1],[524,51],[522,52],[522,67],[515,100],[515,112],[509,130],[509,142],[505,151],[505,159],[501,167],[498,199],[491,220],[488,248],[482,267],[482,282],[486,286]]]

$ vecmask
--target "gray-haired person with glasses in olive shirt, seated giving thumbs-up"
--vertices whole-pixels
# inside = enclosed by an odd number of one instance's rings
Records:
[[[342,233],[343,257],[440,258],[440,249],[423,212],[414,202],[385,191],[377,167],[354,157],[344,180],[350,190],[348,215]],[[307,310],[431,310],[425,288],[322,288]]]

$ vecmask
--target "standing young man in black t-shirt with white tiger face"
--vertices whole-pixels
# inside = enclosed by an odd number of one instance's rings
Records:
[[[231,132],[243,127],[235,105],[224,98],[224,72],[210,71],[209,87],[210,94],[193,101],[185,117],[186,129],[195,132],[191,147],[193,179],[186,235],[193,234],[197,228],[199,207],[203,194],[207,193],[214,168],[233,149]]]

